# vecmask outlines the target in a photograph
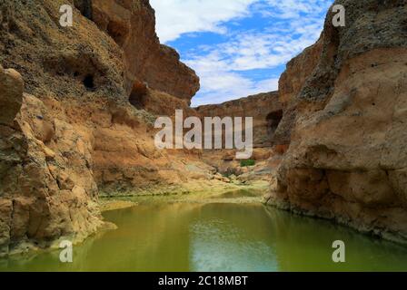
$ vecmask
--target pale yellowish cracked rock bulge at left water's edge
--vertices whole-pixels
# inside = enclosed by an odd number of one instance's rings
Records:
[[[104,227],[89,136],[23,94],[19,73],[0,75],[7,80],[0,97],[9,118],[0,125],[0,256],[17,247],[49,247],[59,237],[80,241]]]

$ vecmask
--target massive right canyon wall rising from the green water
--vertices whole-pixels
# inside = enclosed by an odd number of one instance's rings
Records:
[[[406,243],[407,6],[335,4],[346,8],[346,27],[333,27],[328,14],[267,202]],[[313,66],[309,53],[294,62]]]

